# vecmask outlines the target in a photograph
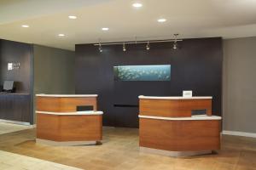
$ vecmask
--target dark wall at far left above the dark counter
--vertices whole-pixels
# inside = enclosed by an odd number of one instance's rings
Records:
[[[16,92],[30,94],[32,89],[32,45],[0,40],[0,84],[15,81]],[[8,71],[8,63],[20,63],[20,69]]]

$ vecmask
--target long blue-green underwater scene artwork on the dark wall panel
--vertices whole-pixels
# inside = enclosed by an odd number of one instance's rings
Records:
[[[113,74],[115,81],[170,81],[171,65],[120,65]]]

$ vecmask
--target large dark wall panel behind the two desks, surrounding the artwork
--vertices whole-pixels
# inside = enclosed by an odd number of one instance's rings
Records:
[[[181,96],[193,90],[195,96],[212,96],[212,111],[221,115],[222,39],[199,38],[179,42],[103,46],[76,45],[76,94],[99,94],[103,124],[117,127],[138,126],[138,95]],[[172,65],[170,82],[115,82],[115,65]]]

